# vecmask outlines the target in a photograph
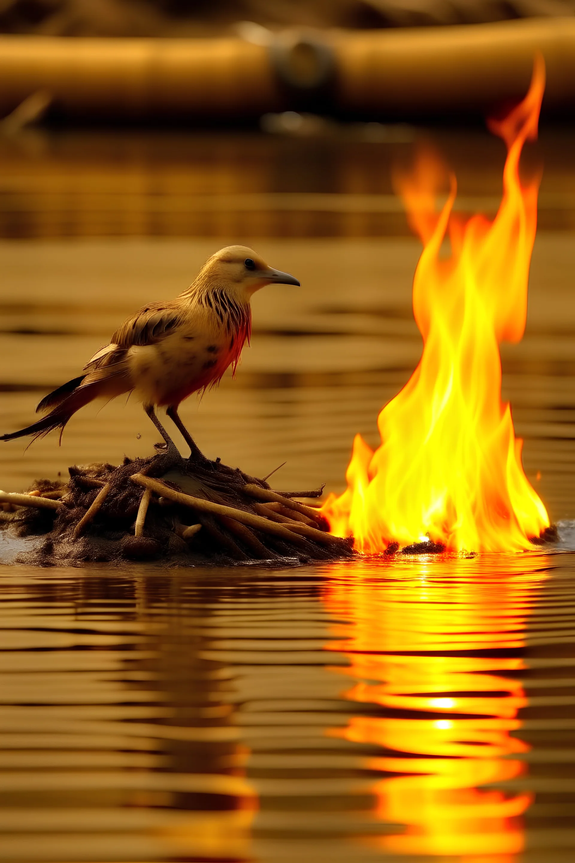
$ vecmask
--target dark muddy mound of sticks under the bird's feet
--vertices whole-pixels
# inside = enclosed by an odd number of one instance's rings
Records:
[[[69,473],[67,483],[41,480],[27,494],[0,494],[0,527],[38,538],[16,562],[285,566],[353,556],[351,539],[332,536],[318,510],[295,500],[321,488],[273,491],[221,462],[174,462],[166,453]]]

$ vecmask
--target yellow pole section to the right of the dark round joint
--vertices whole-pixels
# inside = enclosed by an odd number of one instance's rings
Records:
[[[543,54],[543,104],[575,105],[575,18],[371,30],[337,40],[337,104],[396,118],[484,115],[525,96]]]

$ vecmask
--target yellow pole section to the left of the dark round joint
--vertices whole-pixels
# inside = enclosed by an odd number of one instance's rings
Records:
[[[0,114],[36,91],[66,117],[258,117],[280,105],[266,47],[218,39],[0,37]]]

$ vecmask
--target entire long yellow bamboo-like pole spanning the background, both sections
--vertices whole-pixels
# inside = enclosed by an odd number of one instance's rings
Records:
[[[259,117],[309,110],[297,85],[298,39],[269,46],[217,39],[0,37],[0,116],[34,93],[65,117],[91,119]],[[534,54],[547,66],[544,107],[575,107],[575,18],[526,19],[461,27],[302,33],[333,73],[316,107],[366,118],[483,115],[522,98]],[[281,55],[281,60],[278,58]],[[300,57],[301,60],[301,57]],[[313,76],[312,76],[313,77]],[[296,83],[294,83],[296,82]],[[313,107],[313,106],[312,106]]]

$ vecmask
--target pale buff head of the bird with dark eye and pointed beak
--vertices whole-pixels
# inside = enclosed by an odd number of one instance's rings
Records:
[[[205,287],[224,288],[243,302],[249,302],[260,287],[272,283],[300,284],[289,273],[268,267],[266,261],[247,246],[227,246],[212,255],[203,265],[196,280],[198,283]]]

